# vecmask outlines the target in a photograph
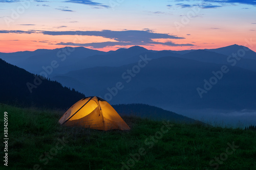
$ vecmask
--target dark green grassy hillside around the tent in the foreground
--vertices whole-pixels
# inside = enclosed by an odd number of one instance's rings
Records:
[[[63,111],[0,104],[0,112],[8,112],[9,128],[9,162],[1,169],[256,169],[255,131],[176,123],[167,129],[123,117],[130,131],[104,132],[60,126]],[[3,142],[0,153],[3,159]]]

